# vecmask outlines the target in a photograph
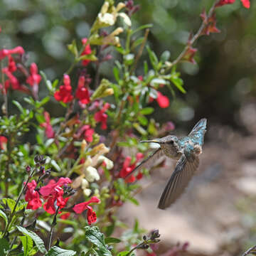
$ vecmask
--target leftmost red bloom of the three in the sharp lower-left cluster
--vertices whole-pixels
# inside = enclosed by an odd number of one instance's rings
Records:
[[[28,202],[27,209],[36,210],[42,206],[40,195],[38,191],[35,191],[36,186],[35,180],[29,182],[27,185],[25,195],[25,200]]]

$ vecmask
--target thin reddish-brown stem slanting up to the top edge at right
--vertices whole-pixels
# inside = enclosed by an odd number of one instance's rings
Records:
[[[193,43],[195,43],[195,41],[198,39],[199,36],[201,36],[201,33],[203,32],[203,29],[206,28],[207,24],[208,24],[208,19],[213,15],[213,11],[215,10],[215,6],[218,3],[219,0],[216,0],[213,3],[213,6],[210,7],[210,11],[208,12],[208,16],[206,17],[206,20],[202,22],[200,28],[198,29],[197,33],[195,36],[193,36],[193,38],[191,38],[191,40],[188,41],[186,47],[183,49],[183,51],[180,53],[180,55],[178,55],[178,58],[176,58],[176,60],[174,60],[171,65],[169,65],[168,68],[166,68],[166,70],[169,70],[170,68],[172,68],[174,65],[176,65],[177,63],[179,63],[182,58],[184,57],[184,55],[186,55],[186,52],[188,50],[189,47],[191,47],[193,45]]]

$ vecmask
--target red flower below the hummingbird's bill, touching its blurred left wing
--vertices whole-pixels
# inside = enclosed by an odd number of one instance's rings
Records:
[[[132,158],[130,156],[127,156],[125,159],[124,159],[124,163],[123,163],[123,166],[122,166],[122,169],[119,173],[119,177],[120,178],[125,178],[125,181],[127,183],[132,183],[137,179],[140,179],[142,178],[142,173],[139,172],[139,174],[137,174],[137,176],[135,177],[133,174],[130,175],[129,177],[127,177],[127,175],[129,175],[129,173],[131,173],[134,168],[136,167],[137,165],[137,162],[140,161],[141,159],[143,159],[144,157],[144,154],[142,153],[137,153],[136,154],[136,161],[134,162],[134,164],[131,164],[131,160]],[[127,178],[126,178],[127,177]]]

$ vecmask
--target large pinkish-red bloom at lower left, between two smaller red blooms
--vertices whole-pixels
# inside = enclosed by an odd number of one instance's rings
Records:
[[[43,208],[46,210],[47,213],[55,213],[55,201],[56,205],[59,206],[60,209],[65,207],[69,198],[63,198],[64,191],[61,187],[68,183],[71,183],[70,178],[61,177],[59,178],[58,182],[50,180],[48,185],[40,188],[39,192],[46,200]]]

